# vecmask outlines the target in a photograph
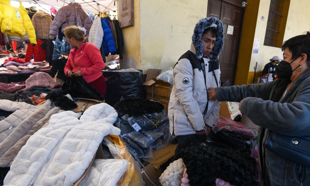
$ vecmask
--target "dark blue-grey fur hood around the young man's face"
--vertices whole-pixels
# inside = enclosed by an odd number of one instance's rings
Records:
[[[190,51],[192,51],[196,56],[201,59],[203,52],[203,45],[201,42],[201,36],[205,29],[209,27],[215,27],[219,31],[219,36],[216,38],[214,49],[212,53],[208,56],[210,59],[217,59],[223,50],[224,45],[224,26],[223,23],[215,17],[207,17],[199,20],[196,24],[194,33],[192,36],[192,46]]]

